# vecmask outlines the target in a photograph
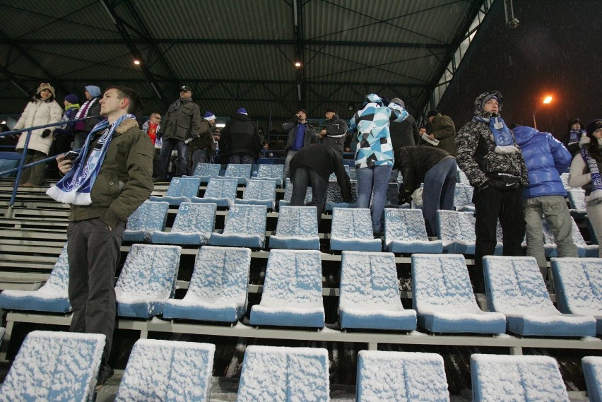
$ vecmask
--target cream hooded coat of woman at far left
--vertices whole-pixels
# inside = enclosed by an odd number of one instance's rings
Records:
[[[55,100],[44,101],[40,99],[32,100],[25,106],[25,110],[21,114],[17,124],[13,127],[15,130],[25,129],[26,127],[43,126],[45,124],[58,123],[61,121],[63,110]],[[50,131],[54,131],[57,126],[48,127]],[[28,149],[37,150],[48,155],[50,146],[52,145],[52,136],[42,138],[42,133],[46,129],[37,129],[31,131],[31,136],[28,144]],[[24,131],[19,136],[16,149],[23,149],[25,146],[25,138],[27,131]]]

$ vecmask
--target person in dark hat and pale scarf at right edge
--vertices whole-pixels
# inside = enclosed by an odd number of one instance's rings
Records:
[[[602,240],[602,119],[587,124],[582,148],[571,162],[569,186],[585,190],[585,211],[598,242]],[[602,247],[598,249],[602,257]]]

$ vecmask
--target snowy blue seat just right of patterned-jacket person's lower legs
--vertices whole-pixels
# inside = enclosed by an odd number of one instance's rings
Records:
[[[430,242],[423,211],[409,208],[384,209],[384,249],[394,253],[442,253],[441,240]]]

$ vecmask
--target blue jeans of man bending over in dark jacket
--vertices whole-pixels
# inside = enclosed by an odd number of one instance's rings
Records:
[[[457,171],[456,160],[448,158],[437,162],[426,172],[423,189],[423,215],[429,236],[437,236],[437,210],[454,211]]]

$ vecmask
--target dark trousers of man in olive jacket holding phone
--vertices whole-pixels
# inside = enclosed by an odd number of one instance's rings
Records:
[[[71,222],[67,228],[69,302],[73,309],[69,330],[107,337],[102,353],[105,367],[115,329],[115,271],[124,229],[121,222],[110,231],[100,218]]]

